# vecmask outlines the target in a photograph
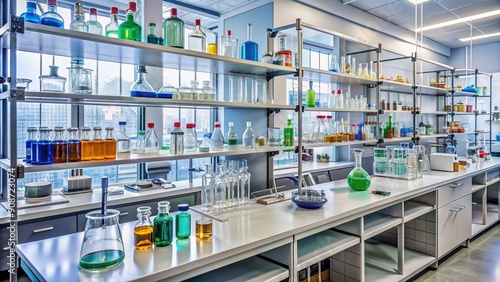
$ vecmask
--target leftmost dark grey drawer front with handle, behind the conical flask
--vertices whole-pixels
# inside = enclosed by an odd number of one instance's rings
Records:
[[[19,225],[20,244],[76,232],[76,216],[66,216]]]

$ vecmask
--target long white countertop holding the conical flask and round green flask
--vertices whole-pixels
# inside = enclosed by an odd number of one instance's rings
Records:
[[[116,269],[100,273],[79,269],[83,233],[21,244],[17,246],[18,253],[32,270],[36,270],[39,277],[47,281],[149,281],[172,278],[245,252],[251,256],[250,250],[262,250],[271,244],[275,244],[273,247],[276,247],[276,244],[286,244],[292,235],[322,225],[331,225],[339,220],[354,219],[392,203],[432,191],[450,181],[499,166],[500,160],[495,159],[474,164],[457,173],[431,171],[421,179],[410,181],[373,177],[371,187],[367,191],[353,191],[347,187],[345,180],[323,183],[308,187],[325,191],[328,202],[323,208],[306,210],[298,208],[291,201],[268,206],[252,202],[247,207],[227,212],[224,215],[229,219],[227,222],[214,221],[214,235],[208,241],[196,240],[193,234],[189,240],[177,240],[171,246],[150,251],[134,250],[135,223],[125,223],[121,225],[125,261]],[[390,191],[391,195],[374,195],[370,190],[375,189]],[[199,217],[195,213],[192,214],[193,218]],[[194,232],[194,220],[192,226]]]

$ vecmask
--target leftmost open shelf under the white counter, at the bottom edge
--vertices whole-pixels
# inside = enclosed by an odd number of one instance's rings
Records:
[[[283,281],[288,279],[288,269],[259,257],[250,257],[226,265],[202,275],[187,279],[187,282],[205,281]]]

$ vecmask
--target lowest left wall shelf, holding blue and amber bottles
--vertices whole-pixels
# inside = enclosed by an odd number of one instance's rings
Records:
[[[101,167],[101,166],[111,166],[111,165],[124,165],[124,164],[136,164],[136,163],[149,163],[149,162],[159,162],[159,161],[170,161],[170,160],[185,160],[185,159],[196,159],[196,158],[209,158],[217,156],[238,156],[238,155],[248,155],[257,153],[267,153],[276,152],[281,150],[294,150],[294,146],[282,146],[282,147],[265,147],[256,149],[243,149],[238,146],[236,150],[227,150],[200,153],[200,152],[186,152],[182,155],[170,155],[168,151],[160,151],[160,153],[152,154],[118,154],[114,160],[102,160],[102,161],[88,161],[88,162],[68,162],[68,163],[54,163],[48,165],[31,165],[27,164],[19,159],[17,163],[24,166],[24,172],[41,172],[41,171],[54,171],[54,170],[64,170],[64,169],[74,169],[74,168],[88,168],[88,167]],[[0,166],[3,169],[9,169],[10,160],[1,159]]]

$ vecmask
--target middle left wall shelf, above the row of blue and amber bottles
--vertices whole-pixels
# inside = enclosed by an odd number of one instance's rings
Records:
[[[3,93],[5,98],[8,93]],[[88,95],[55,92],[25,92],[24,99],[19,102],[27,103],[47,103],[47,104],[73,104],[73,105],[94,105],[94,106],[132,106],[132,107],[181,107],[181,108],[247,108],[266,109],[277,108],[293,110],[295,106],[276,104],[251,104],[240,102],[223,101],[200,101],[200,100],[173,100],[163,98],[140,98],[130,96],[113,95]]]

